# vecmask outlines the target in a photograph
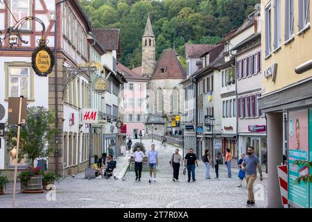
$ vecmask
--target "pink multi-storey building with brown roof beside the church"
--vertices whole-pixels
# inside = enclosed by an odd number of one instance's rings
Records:
[[[128,69],[120,62],[117,62],[117,71],[125,75],[128,83],[123,87],[123,101],[121,107],[123,108],[123,123],[127,137],[139,138],[140,130],[145,129],[146,114],[146,86],[148,78],[142,77],[134,71]]]

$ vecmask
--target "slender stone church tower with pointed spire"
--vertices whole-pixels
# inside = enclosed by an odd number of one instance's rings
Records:
[[[142,37],[142,75],[150,78],[155,71],[155,64],[155,35],[150,23],[150,14],[148,14]]]

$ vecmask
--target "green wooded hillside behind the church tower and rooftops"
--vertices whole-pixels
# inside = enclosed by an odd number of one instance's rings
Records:
[[[156,59],[174,47],[184,55],[185,43],[215,44],[243,23],[260,0],[80,0],[96,28],[121,29],[121,62],[141,65],[141,37],[147,13],[156,37]]]

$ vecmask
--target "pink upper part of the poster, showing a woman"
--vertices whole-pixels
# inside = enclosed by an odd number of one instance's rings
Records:
[[[288,113],[288,148],[309,151],[308,110]]]

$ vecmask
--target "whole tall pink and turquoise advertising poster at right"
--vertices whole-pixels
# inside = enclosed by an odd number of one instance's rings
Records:
[[[305,176],[309,169],[293,164],[295,160],[309,159],[309,112],[299,110],[288,113],[288,200],[300,207],[309,207],[309,185],[296,178]]]

